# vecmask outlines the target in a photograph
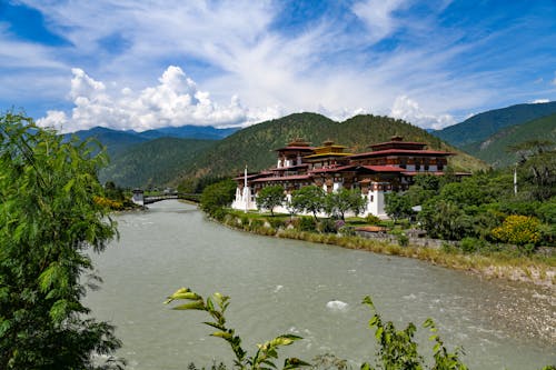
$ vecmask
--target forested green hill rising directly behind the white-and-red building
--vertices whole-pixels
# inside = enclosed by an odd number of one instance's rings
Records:
[[[199,154],[190,168],[183,168],[175,182],[190,177],[236,174],[246,164],[249,171],[268,168],[276,161],[274,149],[294,138],[304,138],[312,146],[330,139],[349,147],[351,152],[363,152],[369,144],[388,141],[395,134],[409,141],[427,142],[431,149],[456,151],[425,130],[389,117],[357,116],[335,122],[316,113],[296,113],[248,127],[216,142]],[[467,154],[456,156],[451,164],[467,170],[486,168],[485,163]]]

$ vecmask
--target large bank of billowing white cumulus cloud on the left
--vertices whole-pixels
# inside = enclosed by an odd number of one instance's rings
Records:
[[[116,84],[108,89],[78,68],[72,69],[72,73],[69,98],[75,107],[71,116],[48,111],[38,120],[40,126],[54,127],[62,132],[97,126],[136,131],[183,124],[234,127],[277,118],[281,113],[279,107],[249,110],[237,96],[231,97],[229,104],[220,106],[175,66],[167,68],[157,86],[137,92],[127,87],[118,90]]]

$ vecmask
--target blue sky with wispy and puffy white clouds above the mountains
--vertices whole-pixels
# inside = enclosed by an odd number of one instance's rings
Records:
[[[64,132],[554,100],[556,0],[0,0],[0,111]]]

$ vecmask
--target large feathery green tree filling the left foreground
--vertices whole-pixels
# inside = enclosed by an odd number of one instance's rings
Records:
[[[106,157],[22,113],[0,117],[0,369],[108,369],[121,343],[88,318],[83,273],[117,230],[97,202]],[[98,277],[88,276],[99,280]],[[95,281],[95,280],[92,280]],[[109,354],[98,364],[95,354]]]

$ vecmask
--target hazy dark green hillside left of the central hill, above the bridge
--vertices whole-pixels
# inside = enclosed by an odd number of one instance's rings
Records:
[[[129,147],[113,157],[99,173],[101,182],[125,188],[163,187],[214,140],[160,138]]]

